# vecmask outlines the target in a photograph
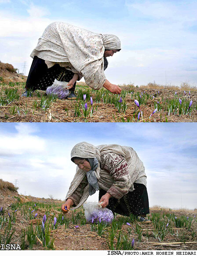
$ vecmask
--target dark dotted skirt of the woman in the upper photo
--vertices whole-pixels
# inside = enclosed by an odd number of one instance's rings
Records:
[[[51,68],[47,68],[45,61],[35,56],[27,77],[26,89],[27,90],[47,90],[55,79],[58,81],[69,82],[73,78],[74,73],[66,68],[60,67],[55,64]],[[70,91],[75,90],[76,83]]]

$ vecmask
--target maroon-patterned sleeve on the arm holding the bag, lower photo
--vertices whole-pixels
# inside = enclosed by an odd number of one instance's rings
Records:
[[[113,177],[113,185],[107,191],[111,196],[120,199],[128,193],[131,179],[126,159],[122,155],[113,152],[103,154],[101,169],[106,170]]]

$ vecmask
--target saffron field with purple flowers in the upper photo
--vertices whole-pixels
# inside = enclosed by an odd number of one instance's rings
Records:
[[[122,86],[120,95],[81,83],[77,100],[60,100],[36,90],[21,97],[25,83],[0,81],[1,122],[196,122],[197,88],[149,84]]]

